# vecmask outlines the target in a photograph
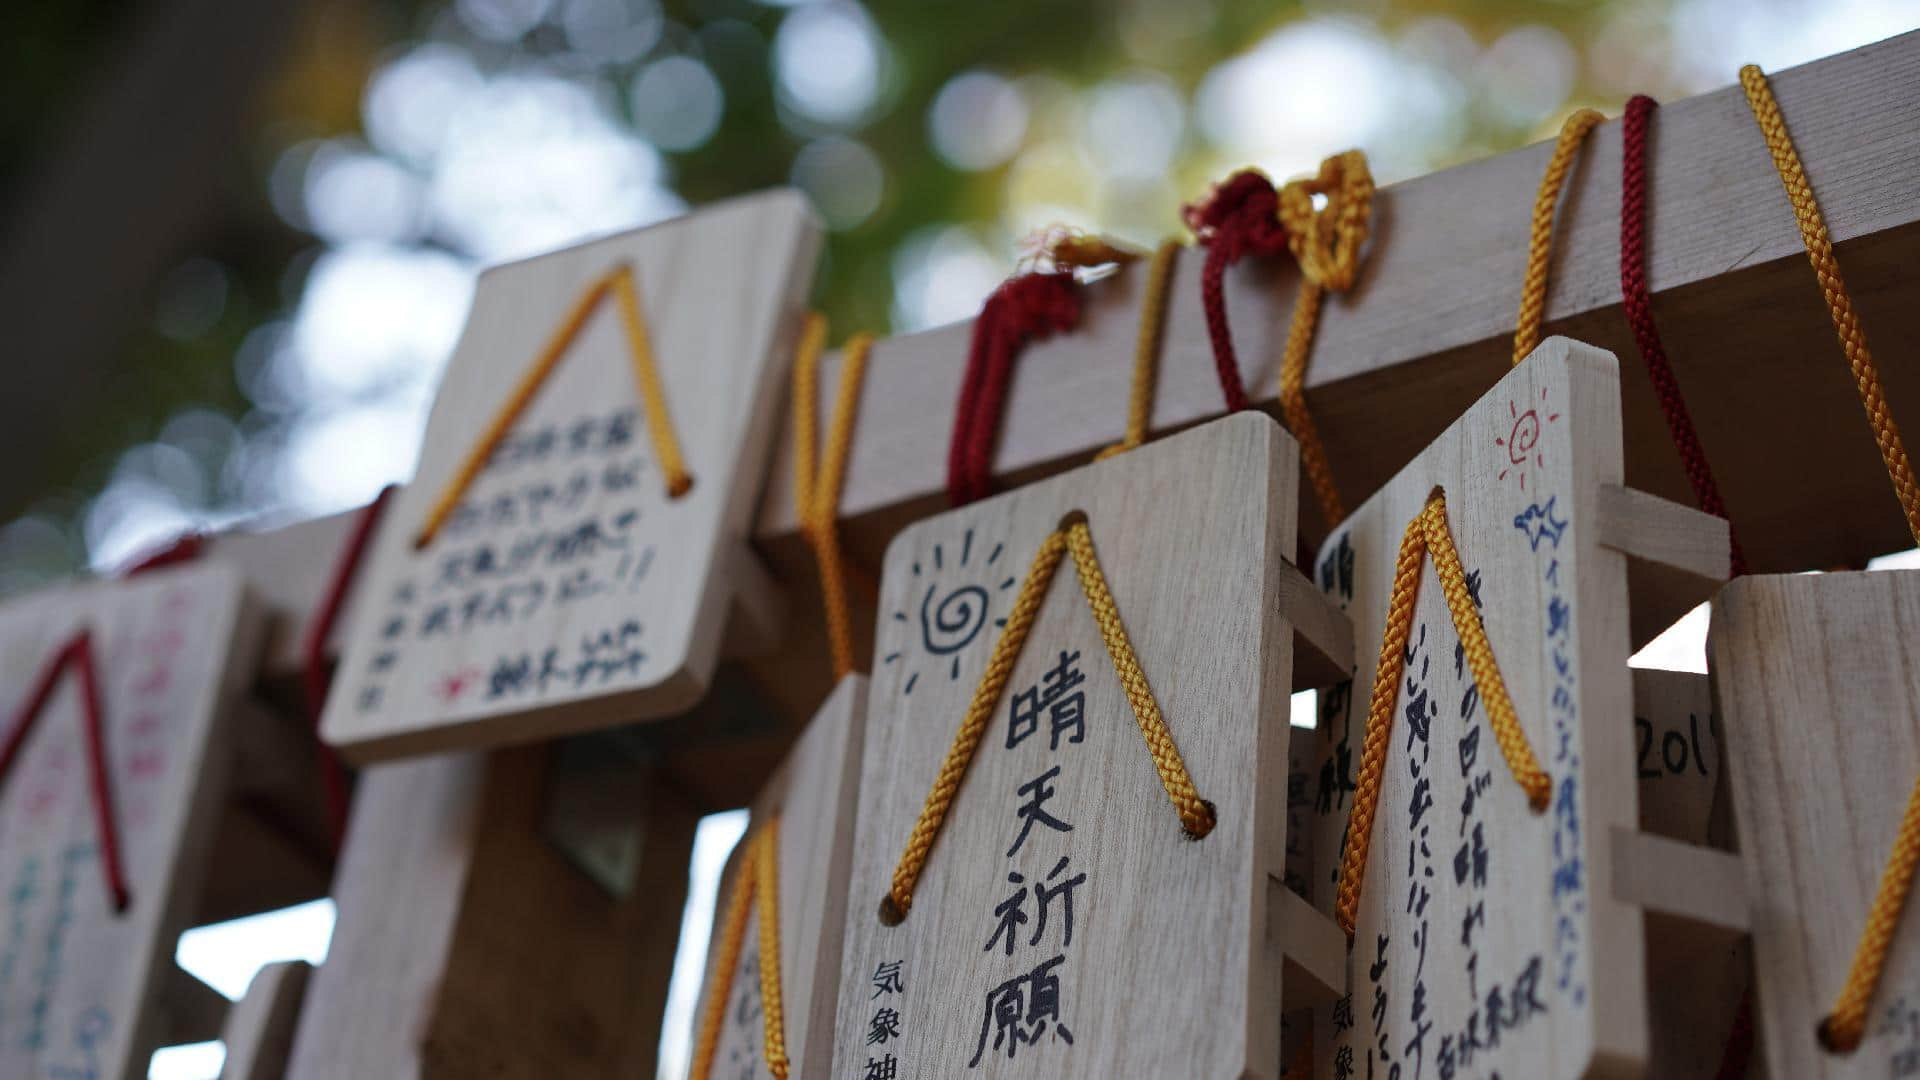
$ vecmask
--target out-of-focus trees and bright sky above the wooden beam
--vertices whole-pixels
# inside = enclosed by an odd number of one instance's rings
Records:
[[[1064,221],[1392,183],[1920,25],[1907,0],[17,0],[0,592],[413,469],[478,267],[768,184],[845,332],[966,317]]]

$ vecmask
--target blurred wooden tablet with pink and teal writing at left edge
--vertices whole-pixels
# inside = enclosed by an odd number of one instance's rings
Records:
[[[228,782],[225,726],[257,625],[240,575],[221,567],[0,607],[6,723],[42,663],[81,626],[92,630],[132,894],[113,915],[69,669],[0,790],[0,1076],[146,1076],[169,1022],[161,997],[175,940],[211,857]]]

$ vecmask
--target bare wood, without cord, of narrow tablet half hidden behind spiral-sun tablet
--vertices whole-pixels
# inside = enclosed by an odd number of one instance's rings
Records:
[[[860,740],[866,732],[866,678],[849,675],[820,705],[780,773],[753,801],[753,824],[780,819],[780,980],[791,1080],[829,1076],[833,1007],[841,984],[841,936],[847,926],[847,869],[860,792]],[[747,836],[753,836],[749,828]],[[733,874],[735,851],[724,911]],[[714,922],[718,932],[720,922]],[[760,999],[760,915],[747,917],[747,940],[732,972],[726,1026],[714,1053],[714,1076],[756,1078],[766,1070],[766,1026]],[[701,1009],[714,992],[708,965]],[[699,1024],[695,1013],[695,1026]]]

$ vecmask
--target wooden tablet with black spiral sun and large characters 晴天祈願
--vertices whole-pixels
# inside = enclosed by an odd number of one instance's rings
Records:
[[[1283,959],[1340,936],[1281,882],[1296,625],[1294,442],[1240,413],[931,517],[887,550],[833,1074],[1277,1076]],[[876,909],[1029,565],[1083,515],[1213,828],[1169,801],[1073,555],[904,920]],[[1344,667],[1344,661],[1342,661]],[[1296,967],[1298,965],[1298,967]]]

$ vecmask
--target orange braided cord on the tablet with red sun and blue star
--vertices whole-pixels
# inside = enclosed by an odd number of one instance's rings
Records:
[[[1513,698],[1507,694],[1507,680],[1494,661],[1494,646],[1486,640],[1486,626],[1473,607],[1467,592],[1467,571],[1459,565],[1459,552],[1453,548],[1453,530],[1446,521],[1446,496],[1434,492],[1421,513],[1407,523],[1400,538],[1400,555],[1394,559],[1394,588],[1386,603],[1386,632],[1380,640],[1380,659],[1373,673],[1373,696],[1367,701],[1367,734],[1361,746],[1359,780],[1354,790],[1354,813],[1346,819],[1346,855],[1340,859],[1340,892],[1334,901],[1334,917],[1346,930],[1346,940],[1354,940],[1354,922],[1359,915],[1359,888],[1367,874],[1367,847],[1373,844],[1373,819],[1380,807],[1380,784],[1386,773],[1388,736],[1394,726],[1394,707],[1400,700],[1400,680],[1407,665],[1407,638],[1413,632],[1413,603],[1421,590],[1421,565],[1427,555],[1434,559],[1434,575],[1440,578],[1440,592],[1446,594],[1448,615],[1453,617],[1453,630],[1459,634],[1467,653],[1467,669],[1473,671],[1473,684],[1480,688],[1480,701],[1486,705],[1488,724],[1500,753],[1507,759],[1513,780],[1526,792],[1526,803],[1540,813],[1548,809],[1553,796],[1553,778],[1540,767],[1521,719],[1513,711]]]

